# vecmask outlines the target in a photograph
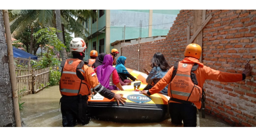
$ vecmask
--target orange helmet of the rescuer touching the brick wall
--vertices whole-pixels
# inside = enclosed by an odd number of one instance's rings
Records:
[[[200,45],[191,43],[187,45],[184,56],[194,57],[199,59],[202,54],[202,48]]]

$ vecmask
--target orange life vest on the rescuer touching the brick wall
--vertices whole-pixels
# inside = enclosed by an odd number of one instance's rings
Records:
[[[173,68],[172,80],[168,86],[168,96],[171,101],[192,104],[202,99],[202,88],[197,84],[195,71],[198,64],[176,62]]]

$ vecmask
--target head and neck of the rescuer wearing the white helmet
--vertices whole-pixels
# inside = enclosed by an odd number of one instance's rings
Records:
[[[82,38],[73,38],[70,41],[69,50],[72,52],[73,58],[83,60],[86,44]]]

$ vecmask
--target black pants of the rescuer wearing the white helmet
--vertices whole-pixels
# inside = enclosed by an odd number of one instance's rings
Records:
[[[63,127],[74,127],[77,122],[88,124],[87,96],[62,96],[61,114]]]

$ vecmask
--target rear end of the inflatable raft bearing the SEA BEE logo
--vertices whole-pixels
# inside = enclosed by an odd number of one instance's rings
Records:
[[[120,123],[160,122],[169,117],[169,97],[153,94],[150,97],[137,91],[112,91],[126,97],[125,104],[118,106],[115,99],[107,99],[96,94],[88,99],[89,115],[98,120]]]

